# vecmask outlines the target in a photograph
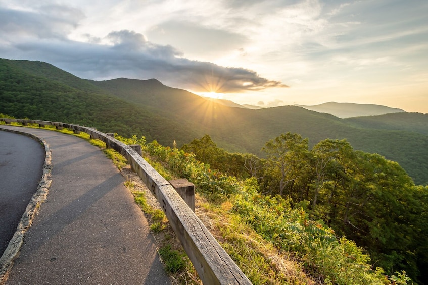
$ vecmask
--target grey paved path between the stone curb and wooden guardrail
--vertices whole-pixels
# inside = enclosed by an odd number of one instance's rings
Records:
[[[113,163],[71,135],[27,129],[52,150],[52,184],[6,284],[170,284]]]

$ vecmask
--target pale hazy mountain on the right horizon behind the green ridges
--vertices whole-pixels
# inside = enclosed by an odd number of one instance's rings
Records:
[[[307,110],[327,113],[335,115],[339,118],[350,118],[350,117],[361,117],[361,116],[376,116],[384,115],[388,113],[403,113],[406,112],[398,108],[390,108],[382,105],[374,104],[355,104],[355,103],[336,103],[328,102],[320,105],[314,106],[305,106],[305,105],[295,105],[303,107]]]

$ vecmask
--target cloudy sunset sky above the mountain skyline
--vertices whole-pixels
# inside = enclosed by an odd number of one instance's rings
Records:
[[[0,0],[0,58],[263,107],[428,113],[426,0]]]

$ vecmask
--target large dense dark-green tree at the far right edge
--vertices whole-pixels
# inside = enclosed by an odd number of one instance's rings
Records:
[[[331,226],[367,249],[389,275],[405,270],[416,280],[420,272],[415,241],[427,243],[422,234],[423,195],[416,195],[417,188],[397,162],[361,151],[350,158]]]

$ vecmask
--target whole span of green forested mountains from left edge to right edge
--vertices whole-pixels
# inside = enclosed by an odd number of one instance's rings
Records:
[[[428,115],[402,110],[341,119],[300,106],[250,109],[156,79],[85,80],[44,62],[0,59],[0,113],[144,135],[163,145],[209,134],[230,152],[258,155],[266,141],[286,132],[309,138],[310,147],[346,138],[356,150],[397,161],[416,184],[428,184]]]

